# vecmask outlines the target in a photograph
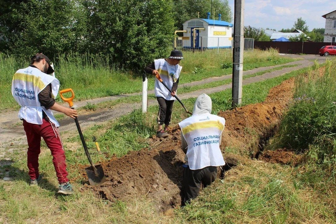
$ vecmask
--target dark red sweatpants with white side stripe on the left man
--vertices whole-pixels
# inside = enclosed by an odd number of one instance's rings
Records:
[[[39,154],[41,152],[41,137],[44,139],[53,156],[52,162],[55,167],[59,183],[68,182],[67,165],[65,163],[65,151],[60,138],[58,128],[50,121],[43,119],[42,125],[31,124],[23,121],[23,126],[28,140],[27,166],[29,176],[35,180],[39,176]]]

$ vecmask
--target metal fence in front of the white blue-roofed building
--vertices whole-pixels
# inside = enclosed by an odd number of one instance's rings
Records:
[[[172,41],[172,48],[176,41],[176,49],[182,51],[204,51],[208,49],[227,49],[232,51],[233,41],[232,37],[176,37]],[[244,51],[253,51],[254,39],[244,38]]]

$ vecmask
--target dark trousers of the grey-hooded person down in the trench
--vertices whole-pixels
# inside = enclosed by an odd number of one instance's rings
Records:
[[[191,170],[189,167],[183,171],[184,203],[197,197],[200,192],[201,183],[203,187],[215,181],[217,167],[204,167],[199,170]]]

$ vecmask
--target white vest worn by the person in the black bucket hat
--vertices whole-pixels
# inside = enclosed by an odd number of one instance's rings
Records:
[[[175,83],[180,76],[182,66],[176,64],[171,65],[165,59],[154,60],[155,69],[158,70],[162,82],[165,83],[168,88],[171,89],[173,83]],[[170,92],[160,83],[158,79],[155,79],[155,96],[161,96],[166,100],[175,100],[175,97],[170,95]]]

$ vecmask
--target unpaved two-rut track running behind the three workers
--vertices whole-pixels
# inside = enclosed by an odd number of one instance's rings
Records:
[[[295,70],[298,70],[298,69],[301,69],[301,68],[311,66],[313,64],[314,60],[316,60],[316,59],[319,61],[319,63],[325,62],[325,60],[327,58],[334,59],[333,56],[331,56],[331,57],[321,57],[319,55],[285,55],[285,56],[286,57],[300,58],[301,60],[287,63],[287,65],[298,64],[295,67],[284,68],[282,70],[277,70],[277,71],[273,71],[273,72],[270,72],[270,73],[265,73],[265,74],[260,75],[260,76],[245,79],[245,80],[243,80],[243,85],[253,83],[253,82],[259,82],[259,81],[262,81],[262,80],[265,80],[265,79],[274,78],[274,77],[277,77],[277,76],[284,75],[284,74],[286,74],[288,72],[291,72],[291,71],[295,71]],[[282,65],[283,64],[245,71],[245,72],[243,72],[243,75],[254,74],[254,73],[257,73],[257,72],[260,72],[260,71],[269,70],[269,69],[279,67],[279,66],[282,66]],[[210,82],[214,82],[214,81],[221,81],[221,80],[230,79],[230,78],[232,78],[232,75],[226,75],[226,76],[221,76],[221,77],[212,77],[212,78],[207,78],[207,79],[204,79],[204,80],[201,80],[201,81],[182,84],[182,85],[180,85],[180,87],[181,86],[201,85],[201,84],[205,84],[205,83],[210,83]],[[214,87],[214,88],[201,89],[201,90],[197,90],[197,91],[194,91],[194,92],[181,94],[181,95],[179,95],[179,98],[180,99],[186,99],[186,98],[191,98],[191,97],[197,97],[202,93],[210,94],[210,93],[220,92],[220,91],[223,91],[223,90],[231,88],[231,87],[232,87],[232,84],[227,84],[227,85],[222,85],[222,86],[218,86],[218,87]],[[151,94],[151,93],[154,93],[154,91],[150,90],[150,91],[148,91],[148,93]],[[123,98],[123,97],[134,96],[134,95],[141,95],[141,93],[131,93],[131,94],[124,94],[124,95],[119,95],[119,96],[102,97],[102,98],[98,98],[98,99],[91,99],[91,100],[75,102],[75,104],[78,107],[80,107],[80,106],[85,106],[88,102],[98,103],[98,102],[116,100],[116,99],[120,99],[120,98]],[[155,100],[149,100],[148,104],[149,104],[149,106],[156,105],[157,102]],[[64,104],[64,105],[66,105],[66,104]],[[83,129],[85,129],[86,127],[90,127],[94,124],[101,124],[101,123],[104,123],[106,121],[118,118],[121,115],[128,114],[136,108],[141,108],[141,103],[129,103],[129,104],[128,103],[121,103],[121,104],[118,104],[113,109],[107,109],[107,110],[104,110],[104,111],[99,111],[98,113],[80,115],[80,117],[79,117],[80,125]],[[59,130],[61,132],[76,131],[76,125],[75,125],[75,122],[74,122],[73,119],[62,119],[60,121],[60,125],[61,126],[60,126]],[[0,141],[2,142],[2,144],[0,146],[0,152],[3,151],[2,149],[7,148],[7,146],[9,144],[13,143],[13,142],[14,142],[14,144],[21,144],[21,143],[26,142],[26,135],[25,135],[25,132],[23,130],[23,127],[20,125],[20,121],[17,118],[17,111],[0,113]],[[0,153],[0,158],[2,158],[3,156],[4,156],[4,153]]]

